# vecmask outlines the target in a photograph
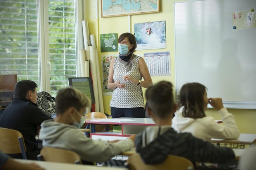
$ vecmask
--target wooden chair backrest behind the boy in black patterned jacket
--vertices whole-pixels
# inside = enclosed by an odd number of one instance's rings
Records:
[[[168,155],[163,163],[156,165],[146,165],[140,155],[133,154],[127,160],[130,170],[194,170],[193,163],[181,156]]]

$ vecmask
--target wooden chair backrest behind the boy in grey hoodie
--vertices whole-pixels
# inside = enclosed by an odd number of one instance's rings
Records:
[[[40,155],[37,157],[38,160],[48,162],[82,164],[79,155],[73,151],[64,150],[61,148],[43,147],[43,149],[40,151]]]

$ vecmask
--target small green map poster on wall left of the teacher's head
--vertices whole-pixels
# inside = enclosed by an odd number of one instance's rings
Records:
[[[100,34],[100,51],[118,51],[118,37],[116,33]]]

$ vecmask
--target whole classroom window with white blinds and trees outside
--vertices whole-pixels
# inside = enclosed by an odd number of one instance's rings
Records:
[[[77,76],[76,0],[0,1],[0,74],[57,91]],[[48,89],[48,90],[46,90]]]

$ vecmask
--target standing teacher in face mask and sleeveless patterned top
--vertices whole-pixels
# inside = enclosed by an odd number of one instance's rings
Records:
[[[111,116],[145,117],[142,87],[152,85],[144,59],[133,54],[137,48],[135,36],[123,33],[118,38],[119,57],[111,59],[107,88],[114,89],[110,101]],[[144,81],[141,81],[141,79]]]

